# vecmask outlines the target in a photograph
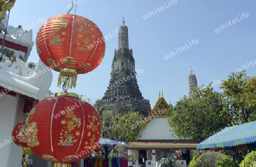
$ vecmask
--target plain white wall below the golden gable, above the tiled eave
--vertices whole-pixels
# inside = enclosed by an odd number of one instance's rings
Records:
[[[154,118],[147,124],[139,140],[178,140],[179,138],[171,135],[170,130],[167,118]]]

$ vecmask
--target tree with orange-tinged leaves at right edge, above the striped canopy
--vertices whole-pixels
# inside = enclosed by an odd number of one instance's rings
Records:
[[[256,120],[256,78],[242,72],[231,73],[220,86],[223,89],[223,111],[233,124]]]

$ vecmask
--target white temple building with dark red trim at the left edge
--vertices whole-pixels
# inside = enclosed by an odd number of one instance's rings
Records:
[[[7,15],[1,22],[6,26]],[[4,35],[2,31],[1,46]],[[22,147],[11,140],[13,128],[18,122],[26,120],[27,113],[36,103],[52,95],[49,91],[51,69],[40,59],[27,64],[33,45],[32,30],[7,26],[4,48],[0,53],[0,161],[3,167],[21,166]],[[37,56],[37,53],[34,55]],[[11,61],[11,56],[15,56],[16,61]],[[33,157],[33,166],[51,166],[51,162]]]

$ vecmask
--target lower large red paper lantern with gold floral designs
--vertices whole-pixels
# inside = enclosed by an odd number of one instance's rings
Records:
[[[101,135],[96,110],[72,93],[57,93],[55,97],[43,99],[32,108],[25,126],[32,129],[26,135],[32,152],[61,164],[88,156]]]

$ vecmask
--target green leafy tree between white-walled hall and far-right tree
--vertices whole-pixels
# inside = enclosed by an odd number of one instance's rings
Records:
[[[203,141],[229,123],[222,111],[221,93],[213,91],[211,83],[197,87],[191,97],[184,96],[170,111],[168,124],[180,139]]]

